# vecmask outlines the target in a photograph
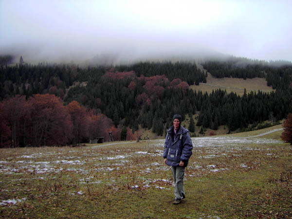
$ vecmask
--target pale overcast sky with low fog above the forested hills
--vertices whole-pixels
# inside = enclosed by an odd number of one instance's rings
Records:
[[[0,0],[0,54],[292,61],[292,0]]]

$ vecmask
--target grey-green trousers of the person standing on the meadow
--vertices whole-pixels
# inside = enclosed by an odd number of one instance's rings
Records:
[[[184,167],[183,166],[171,166],[172,176],[174,179],[174,196],[176,199],[183,199],[183,177]]]

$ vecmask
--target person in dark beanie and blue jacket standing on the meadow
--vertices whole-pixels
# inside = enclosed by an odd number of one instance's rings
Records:
[[[173,126],[167,130],[164,142],[164,163],[171,166],[175,183],[173,204],[181,203],[185,198],[183,189],[184,168],[192,155],[193,144],[186,128],[181,126],[182,116],[173,116]]]

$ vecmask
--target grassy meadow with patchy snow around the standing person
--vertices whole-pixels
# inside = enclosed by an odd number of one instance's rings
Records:
[[[292,218],[292,147],[279,128],[193,138],[173,205],[164,140],[0,149],[1,218]],[[247,138],[249,137],[249,138]]]

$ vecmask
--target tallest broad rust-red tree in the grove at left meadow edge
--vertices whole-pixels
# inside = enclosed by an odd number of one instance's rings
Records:
[[[34,146],[60,146],[72,137],[70,115],[59,97],[36,94],[27,101],[26,141]]]

